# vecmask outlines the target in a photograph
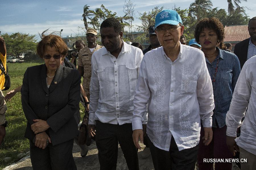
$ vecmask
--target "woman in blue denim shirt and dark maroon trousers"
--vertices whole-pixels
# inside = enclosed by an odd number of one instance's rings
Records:
[[[206,159],[232,158],[226,145],[226,114],[229,110],[232,94],[240,74],[240,63],[237,56],[216,47],[224,39],[224,27],[216,18],[204,18],[195,28],[195,39],[202,46],[208,72],[212,79],[214,105],[212,116],[212,142],[205,146],[202,137],[204,129],[201,128],[201,137],[198,151],[199,169],[210,170],[212,162],[203,162]],[[202,126],[202,124],[201,124]],[[232,163],[215,163],[215,169],[232,170]]]

